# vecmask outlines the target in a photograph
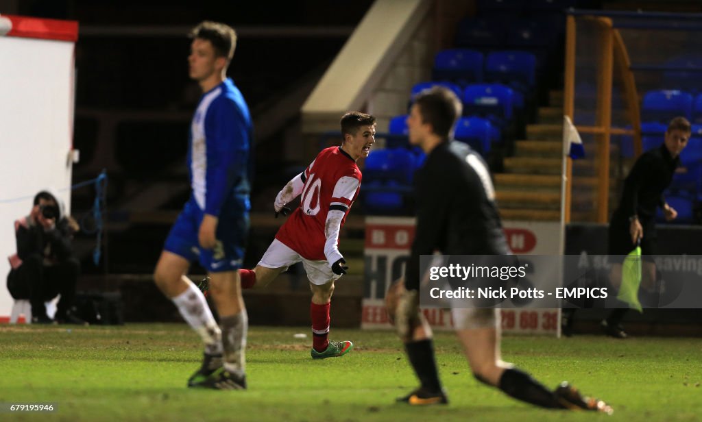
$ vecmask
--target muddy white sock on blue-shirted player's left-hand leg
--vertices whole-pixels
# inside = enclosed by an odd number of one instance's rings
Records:
[[[187,290],[171,300],[178,307],[185,322],[200,335],[205,343],[205,353],[220,355],[222,353],[222,332],[207,305],[204,294],[190,280],[187,284]]]

